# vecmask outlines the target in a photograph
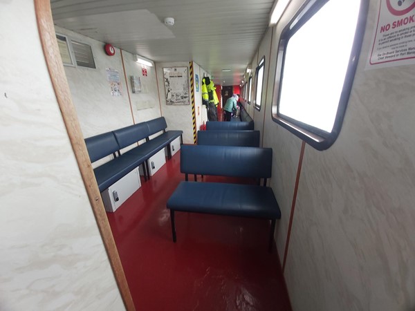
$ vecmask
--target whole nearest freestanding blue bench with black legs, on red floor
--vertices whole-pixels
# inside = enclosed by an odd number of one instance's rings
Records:
[[[273,189],[266,187],[271,177],[273,149],[257,147],[183,145],[180,182],[167,200],[173,241],[176,242],[175,211],[226,216],[265,218],[271,221],[270,251],[273,248],[276,220],[281,218]],[[213,159],[213,160],[212,160]],[[189,174],[263,179],[263,185],[188,181]]]

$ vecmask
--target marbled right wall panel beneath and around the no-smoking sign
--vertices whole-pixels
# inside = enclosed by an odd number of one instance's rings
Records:
[[[342,131],[306,147],[286,282],[293,310],[415,310],[415,65],[365,70]]]

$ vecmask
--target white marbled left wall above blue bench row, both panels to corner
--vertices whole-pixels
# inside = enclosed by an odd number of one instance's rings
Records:
[[[65,66],[72,100],[85,138],[129,126],[133,124],[133,121],[139,123],[160,117],[160,102],[154,66],[144,66],[147,69],[147,76],[143,76],[142,65],[134,61],[133,54],[122,51],[121,57],[120,49],[116,48],[116,54],[108,56],[104,53],[103,42],[57,26],[55,29],[63,35],[68,35],[71,39],[91,45],[93,50],[97,68]],[[122,67],[122,58],[124,59],[127,81]],[[121,96],[111,95],[107,68],[118,70],[122,87]],[[131,75],[140,78],[142,93],[132,92]],[[131,111],[133,115],[131,115]]]

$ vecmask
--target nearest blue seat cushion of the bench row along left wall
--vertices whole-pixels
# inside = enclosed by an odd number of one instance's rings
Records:
[[[100,192],[127,175],[142,164],[146,158],[136,155],[122,155],[93,170]]]

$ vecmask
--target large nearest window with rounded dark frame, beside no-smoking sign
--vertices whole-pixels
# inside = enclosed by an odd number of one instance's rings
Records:
[[[368,2],[307,1],[282,31],[273,120],[316,149],[329,148],[340,132]]]

